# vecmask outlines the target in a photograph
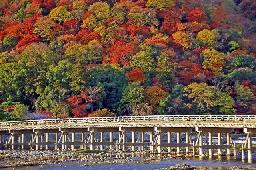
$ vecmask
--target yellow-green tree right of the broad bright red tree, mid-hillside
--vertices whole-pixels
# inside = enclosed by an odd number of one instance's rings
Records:
[[[138,68],[143,72],[154,71],[156,67],[156,56],[158,55],[158,49],[152,44],[143,44],[140,46],[140,51],[132,56],[130,66],[132,68]]]

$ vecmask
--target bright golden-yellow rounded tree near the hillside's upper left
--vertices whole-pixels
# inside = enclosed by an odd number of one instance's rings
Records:
[[[63,21],[70,20],[70,12],[64,6],[59,6],[51,10],[49,18],[52,20],[57,20],[61,25]]]

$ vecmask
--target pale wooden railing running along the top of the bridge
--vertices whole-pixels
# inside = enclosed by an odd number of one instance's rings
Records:
[[[28,121],[0,122],[0,126],[44,125],[60,123],[110,123],[110,122],[147,122],[147,121],[256,121],[256,115],[157,115],[157,116],[123,116],[90,117],[68,119],[42,119]]]

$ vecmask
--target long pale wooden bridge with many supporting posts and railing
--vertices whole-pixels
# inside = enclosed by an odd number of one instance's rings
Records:
[[[234,129],[242,129],[246,139],[241,147],[242,158],[247,152],[248,160],[252,160],[252,134],[256,133],[256,115],[159,115],[159,116],[128,116],[128,117],[93,117],[93,118],[70,118],[70,119],[44,119],[28,121],[0,122],[0,147],[2,149],[46,149],[54,146],[56,150],[72,150],[76,146],[82,149],[95,149],[104,146],[116,150],[126,151],[136,147],[144,150],[148,147],[152,153],[157,147],[157,153],[162,153],[162,148],[167,147],[168,153],[171,148],[176,148],[180,154],[181,148],[186,153],[199,150],[208,150],[209,156],[218,149],[218,154],[226,150],[227,155],[236,154],[236,143],[230,135]],[[96,139],[95,133],[100,133],[100,139]],[[126,138],[126,133],[131,132],[132,137]],[[136,139],[136,132],[140,132]],[[49,134],[54,133],[55,139],[50,140]],[[76,134],[77,133],[77,134]],[[118,133],[118,139],[113,140],[113,133]],[[150,135],[150,140],[145,139],[145,133]],[[162,133],[167,133],[167,142],[163,142]],[[184,134],[185,142],[181,142],[181,133]],[[192,141],[191,133],[196,133],[196,140]],[[109,134],[109,138],[104,135]],[[176,143],[171,136],[176,135]],[[25,139],[26,135],[26,139]],[[77,140],[75,135],[80,135]],[[31,137],[31,138],[30,138]],[[225,143],[222,137],[226,138]],[[205,139],[203,141],[203,138]],[[218,139],[213,144],[213,138]]]

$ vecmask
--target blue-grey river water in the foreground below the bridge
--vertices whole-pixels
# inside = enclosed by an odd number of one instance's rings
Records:
[[[131,162],[120,162],[116,164],[95,164],[91,165],[89,162],[63,162],[58,164],[41,165],[41,166],[30,166],[30,167],[12,167],[5,168],[5,170],[154,170],[159,168],[167,168],[176,164],[188,164],[196,166],[197,168],[206,166],[209,169],[220,169],[226,170],[231,166],[251,166],[256,168],[256,156],[253,157],[252,162],[247,160],[243,161],[241,156],[203,156],[191,159],[164,159],[161,160],[159,157],[149,160],[144,157],[132,157],[138,155],[127,154],[130,157]]]

